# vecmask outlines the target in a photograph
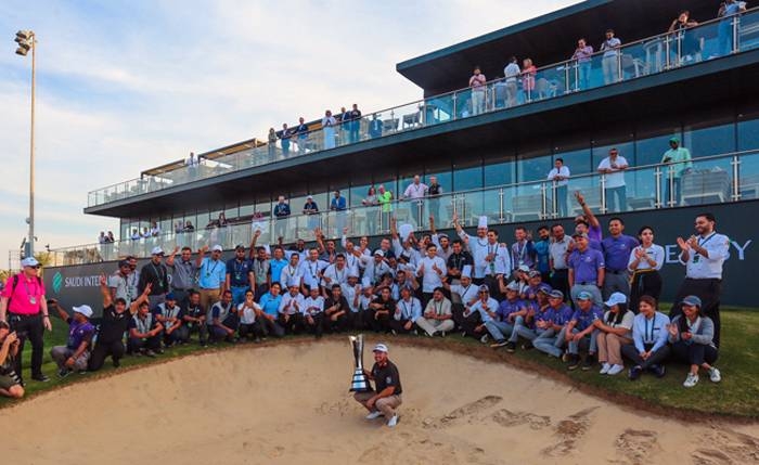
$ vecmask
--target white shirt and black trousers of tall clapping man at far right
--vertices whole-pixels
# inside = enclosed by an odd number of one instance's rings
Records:
[[[730,238],[726,235],[712,232],[705,237],[698,237],[698,244],[707,249],[709,258],[691,250],[685,266],[685,281],[680,285],[676,302],[682,302],[683,298],[693,295],[702,299],[702,312],[715,323],[715,346],[720,347],[720,294],[722,293],[722,267],[730,258]],[[680,303],[672,306],[670,317],[682,313]]]

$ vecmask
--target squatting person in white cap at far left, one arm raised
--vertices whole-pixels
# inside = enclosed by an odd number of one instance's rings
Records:
[[[95,328],[90,323],[92,309],[89,306],[74,307],[72,317],[66,313],[57,301],[51,300],[52,306],[61,320],[68,323],[68,341],[65,346],[55,346],[50,349],[50,357],[57,364],[59,377],[66,377],[74,370],[87,371],[87,362],[90,360],[90,349],[92,348],[92,336]]]

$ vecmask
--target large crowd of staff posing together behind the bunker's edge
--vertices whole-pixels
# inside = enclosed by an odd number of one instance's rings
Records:
[[[375,249],[365,236],[347,237],[347,229],[339,241],[317,229],[312,247],[304,241],[259,245],[257,232],[227,261],[219,245],[177,247],[168,256],[155,247],[141,269],[128,257],[113,275],[102,276],[98,326],[90,306],[69,313],[46,300],[39,263],[26,258],[0,300],[0,393],[23,395],[27,339],[31,378],[48,379],[41,363],[50,310],[69,325],[66,346],[50,352],[62,377],[100,370],[108,357],[118,366],[127,354],[155,357],[194,340],[207,346],[373,331],[460,333],[507,352],[545,352],[569,370],[597,363],[602,375],[617,375],[627,363],[630,379],[643,373],[661,377],[667,361],[683,362],[691,366],[686,387],[699,373],[719,382],[719,297],[730,242],[716,232],[716,219],[698,215],[694,234],[678,238],[685,279],[665,315],[658,298],[676,284],[659,274],[665,253],[654,229],[628,235],[623,220],[614,217],[604,234],[579,192],[576,199],[583,214],[573,232],[556,223],[532,236],[517,227],[510,246],[487,217],[474,234],[454,217],[452,237],[417,236],[412,225],[391,219],[389,237]]]

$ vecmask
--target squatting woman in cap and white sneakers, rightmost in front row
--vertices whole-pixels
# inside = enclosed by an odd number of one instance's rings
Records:
[[[712,341],[715,323],[702,314],[702,299],[696,296],[685,297],[682,311],[669,325],[669,343],[674,358],[691,364],[683,386],[694,387],[698,383],[698,369],[706,370],[712,383],[721,382],[722,375],[713,366],[718,357]]]

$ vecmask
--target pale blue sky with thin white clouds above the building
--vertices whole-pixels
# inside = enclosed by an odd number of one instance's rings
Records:
[[[0,268],[26,234],[30,60],[38,35],[38,249],[118,234],[87,193],[269,127],[421,98],[395,64],[575,3],[536,0],[0,3]],[[5,39],[2,39],[5,38]],[[4,42],[2,41],[4,40]],[[1,46],[4,43],[5,46]],[[504,57],[518,51],[504,51]],[[462,77],[462,86],[466,76]]]

